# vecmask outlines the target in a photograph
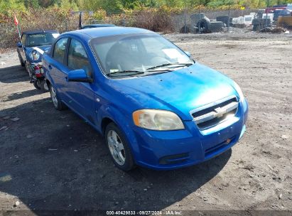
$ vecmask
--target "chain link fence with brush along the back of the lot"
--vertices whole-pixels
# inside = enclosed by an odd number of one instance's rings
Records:
[[[98,15],[98,14],[97,14]],[[80,19],[81,18],[81,19]],[[96,16],[90,11],[70,11],[60,15],[53,13],[36,13],[33,18],[20,21],[21,31],[39,29],[55,29],[63,33],[73,31],[82,26],[96,23],[109,23],[116,26],[134,26],[147,28],[157,32],[177,33],[231,33],[249,31],[273,31],[277,19],[268,9],[244,10],[184,10],[180,13],[162,13],[139,11],[135,13],[112,13],[105,16]],[[289,26],[283,26],[289,28]],[[0,23],[0,48],[12,48],[18,41],[16,26],[11,23]],[[279,29],[279,28],[276,28]],[[285,31],[279,29],[279,31]]]

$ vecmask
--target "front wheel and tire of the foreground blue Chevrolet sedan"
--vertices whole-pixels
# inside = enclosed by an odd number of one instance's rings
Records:
[[[123,171],[133,169],[135,163],[131,149],[119,127],[114,123],[108,124],[104,131],[104,137],[114,165]]]

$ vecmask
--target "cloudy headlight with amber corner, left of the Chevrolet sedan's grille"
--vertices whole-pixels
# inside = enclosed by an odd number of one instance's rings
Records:
[[[157,131],[184,129],[183,122],[177,114],[160,109],[140,109],[133,112],[136,126]]]

